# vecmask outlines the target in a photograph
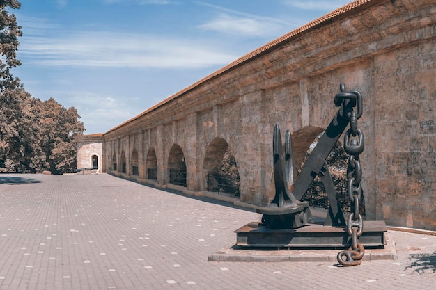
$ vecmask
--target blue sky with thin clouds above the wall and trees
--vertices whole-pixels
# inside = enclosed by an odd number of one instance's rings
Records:
[[[21,0],[13,70],[104,133],[350,0]]]

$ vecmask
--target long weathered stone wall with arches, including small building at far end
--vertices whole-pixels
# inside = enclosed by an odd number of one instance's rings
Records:
[[[78,167],[94,154],[101,172],[199,195],[231,148],[240,202],[263,205],[274,196],[274,124],[290,129],[301,159],[345,83],[364,98],[366,218],[436,229],[435,22],[434,0],[354,1],[102,135],[80,136]],[[185,173],[182,186],[173,172]]]

